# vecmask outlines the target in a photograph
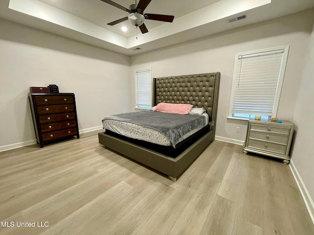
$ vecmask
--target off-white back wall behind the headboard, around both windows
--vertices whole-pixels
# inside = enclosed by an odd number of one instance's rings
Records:
[[[134,70],[152,67],[153,77],[221,72],[216,136],[225,141],[245,140],[247,121],[227,120],[235,54],[250,50],[290,45],[286,75],[280,98],[280,119],[293,119],[295,97],[314,23],[314,9],[259,24],[237,28],[210,37],[131,56],[132,102]],[[236,133],[236,127],[240,133]]]

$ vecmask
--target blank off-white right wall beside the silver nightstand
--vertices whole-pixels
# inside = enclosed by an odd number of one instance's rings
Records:
[[[314,28],[305,58],[293,117],[293,122],[296,125],[296,136],[291,159],[308,190],[309,195],[305,195],[305,197],[309,196],[308,203],[310,205],[312,203],[310,210],[312,210],[314,222]],[[306,191],[304,193],[306,194]]]

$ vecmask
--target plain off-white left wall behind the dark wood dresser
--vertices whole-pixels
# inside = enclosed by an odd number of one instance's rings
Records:
[[[131,111],[129,73],[129,56],[0,19],[0,150],[35,139],[29,87],[74,93],[84,130]]]

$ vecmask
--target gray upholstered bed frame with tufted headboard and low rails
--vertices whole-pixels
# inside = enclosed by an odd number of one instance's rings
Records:
[[[209,121],[211,119],[211,130],[176,158],[107,135],[105,132],[98,134],[99,142],[168,175],[175,182],[215,138],[219,83],[220,72],[154,78],[153,105],[160,102],[193,104],[195,107],[203,107],[209,115]]]

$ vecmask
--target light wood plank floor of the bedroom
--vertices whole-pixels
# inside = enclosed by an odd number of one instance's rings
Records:
[[[173,183],[97,133],[0,153],[0,235],[314,235],[281,162],[213,141]]]

